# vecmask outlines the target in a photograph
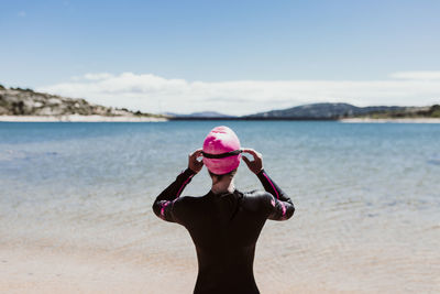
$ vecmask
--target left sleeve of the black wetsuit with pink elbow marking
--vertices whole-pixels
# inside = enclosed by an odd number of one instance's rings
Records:
[[[182,172],[176,181],[174,181],[168,187],[166,187],[154,200],[153,211],[154,214],[166,221],[177,222],[174,215],[173,207],[182,192],[191,182],[193,176],[196,173],[190,168]]]

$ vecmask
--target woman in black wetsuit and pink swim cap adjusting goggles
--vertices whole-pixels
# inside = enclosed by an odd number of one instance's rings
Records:
[[[242,193],[234,187],[241,159],[265,190]],[[212,178],[209,193],[179,197],[204,165]],[[264,171],[262,154],[241,149],[231,129],[217,127],[204,148],[189,155],[188,168],[157,196],[153,210],[164,220],[183,225],[193,238],[199,268],[194,293],[260,293],[253,274],[256,240],[266,219],[288,219],[295,208]]]

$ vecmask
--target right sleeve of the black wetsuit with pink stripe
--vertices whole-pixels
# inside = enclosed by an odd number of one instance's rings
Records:
[[[262,170],[256,176],[264,189],[271,194],[264,202],[268,210],[267,218],[273,220],[289,219],[295,213],[292,199],[271,179],[266,171]]]

